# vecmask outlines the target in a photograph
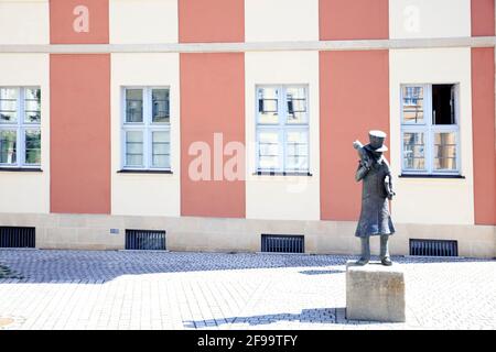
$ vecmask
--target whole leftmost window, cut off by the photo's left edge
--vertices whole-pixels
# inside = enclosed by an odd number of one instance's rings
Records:
[[[0,87],[0,167],[40,167],[41,91]]]

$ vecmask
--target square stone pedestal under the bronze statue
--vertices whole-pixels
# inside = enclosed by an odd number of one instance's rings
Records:
[[[346,318],[403,322],[405,275],[398,264],[346,263]]]

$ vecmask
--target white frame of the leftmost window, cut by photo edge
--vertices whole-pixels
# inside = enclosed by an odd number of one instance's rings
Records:
[[[17,116],[18,121],[15,123],[4,123],[0,122],[0,131],[15,131],[17,132],[17,150],[15,150],[15,164],[6,164],[0,163],[1,168],[40,168],[41,167],[41,105],[40,101],[40,122],[26,122],[25,118],[25,105],[24,97],[26,89],[39,89],[41,91],[40,86],[1,86],[2,89],[17,89],[18,98],[17,98]],[[40,131],[40,163],[39,164],[25,164],[25,133],[28,131]]]

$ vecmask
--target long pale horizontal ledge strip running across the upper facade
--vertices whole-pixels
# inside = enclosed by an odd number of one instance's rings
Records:
[[[370,51],[430,47],[493,47],[496,36],[407,40],[313,41],[267,43],[173,44],[0,44],[0,53],[105,54],[105,53],[245,53],[279,51]]]

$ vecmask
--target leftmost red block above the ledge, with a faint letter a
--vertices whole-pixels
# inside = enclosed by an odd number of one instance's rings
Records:
[[[74,22],[79,12],[76,7],[88,9],[88,32],[76,32]],[[52,44],[108,44],[108,0],[50,0],[50,42]],[[132,25],[132,19],[130,19]],[[137,29],[138,30],[138,29]]]

